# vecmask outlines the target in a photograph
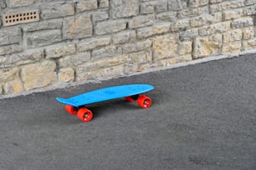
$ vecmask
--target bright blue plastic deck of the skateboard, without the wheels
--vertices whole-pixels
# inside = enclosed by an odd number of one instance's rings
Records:
[[[95,91],[85,92],[70,98],[57,97],[56,100],[67,105],[79,107],[94,102],[103,102],[120,97],[128,97],[153,90],[150,84],[129,84],[115,87],[100,88]]]

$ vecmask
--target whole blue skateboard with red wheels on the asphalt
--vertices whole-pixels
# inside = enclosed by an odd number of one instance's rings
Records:
[[[115,98],[125,97],[128,102],[137,101],[142,108],[151,107],[151,98],[141,95],[144,92],[153,90],[154,87],[149,84],[130,84],[114,87],[100,88],[95,91],[85,92],[70,98],[57,97],[56,100],[65,104],[65,110],[77,117],[83,122],[90,122],[93,113],[85,108],[85,105],[95,102],[103,102]]]

